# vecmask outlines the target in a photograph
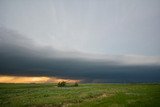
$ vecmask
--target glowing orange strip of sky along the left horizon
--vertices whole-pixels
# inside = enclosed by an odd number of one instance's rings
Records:
[[[80,80],[61,79],[47,76],[9,76],[0,75],[0,83],[58,83],[65,81],[67,83],[80,82]]]

